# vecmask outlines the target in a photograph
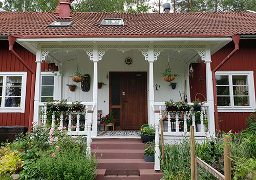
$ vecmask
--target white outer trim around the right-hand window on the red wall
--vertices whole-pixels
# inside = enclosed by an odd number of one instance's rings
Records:
[[[250,106],[243,107],[223,107],[218,106],[218,112],[254,112],[256,108],[255,104],[255,90],[254,90],[254,80],[253,71],[217,71],[216,75],[247,75],[248,80],[248,90],[249,90],[249,102]]]

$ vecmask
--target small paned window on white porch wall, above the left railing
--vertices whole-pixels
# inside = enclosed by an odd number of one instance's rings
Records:
[[[54,75],[42,75],[41,77],[41,102],[45,102],[49,97],[53,99]]]

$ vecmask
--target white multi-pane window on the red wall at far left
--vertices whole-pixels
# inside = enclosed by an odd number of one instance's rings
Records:
[[[0,73],[0,112],[24,112],[27,72]]]

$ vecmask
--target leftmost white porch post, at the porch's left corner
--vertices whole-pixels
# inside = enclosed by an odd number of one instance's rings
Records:
[[[41,92],[41,45],[37,45],[36,50],[36,79],[35,79],[35,98],[34,98],[34,118],[33,121],[39,124],[39,102],[40,102],[40,92]]]

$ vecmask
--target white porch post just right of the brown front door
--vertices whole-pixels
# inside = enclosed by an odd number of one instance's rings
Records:
[[[153,63],[154,63],[154,48],[153,45],[150,45],[150,49],[148,49],[148,63],[150,63],[150,69],[149,69],[149,82],[148,82],[148,89],[149,89],[149,102],[150,106],[155,104],[155,97],[154,97],[154,70],[153,70]],[[150,108],[150,122],[148,124],[154,124],[155,123],[155,118],[153,109]]]

